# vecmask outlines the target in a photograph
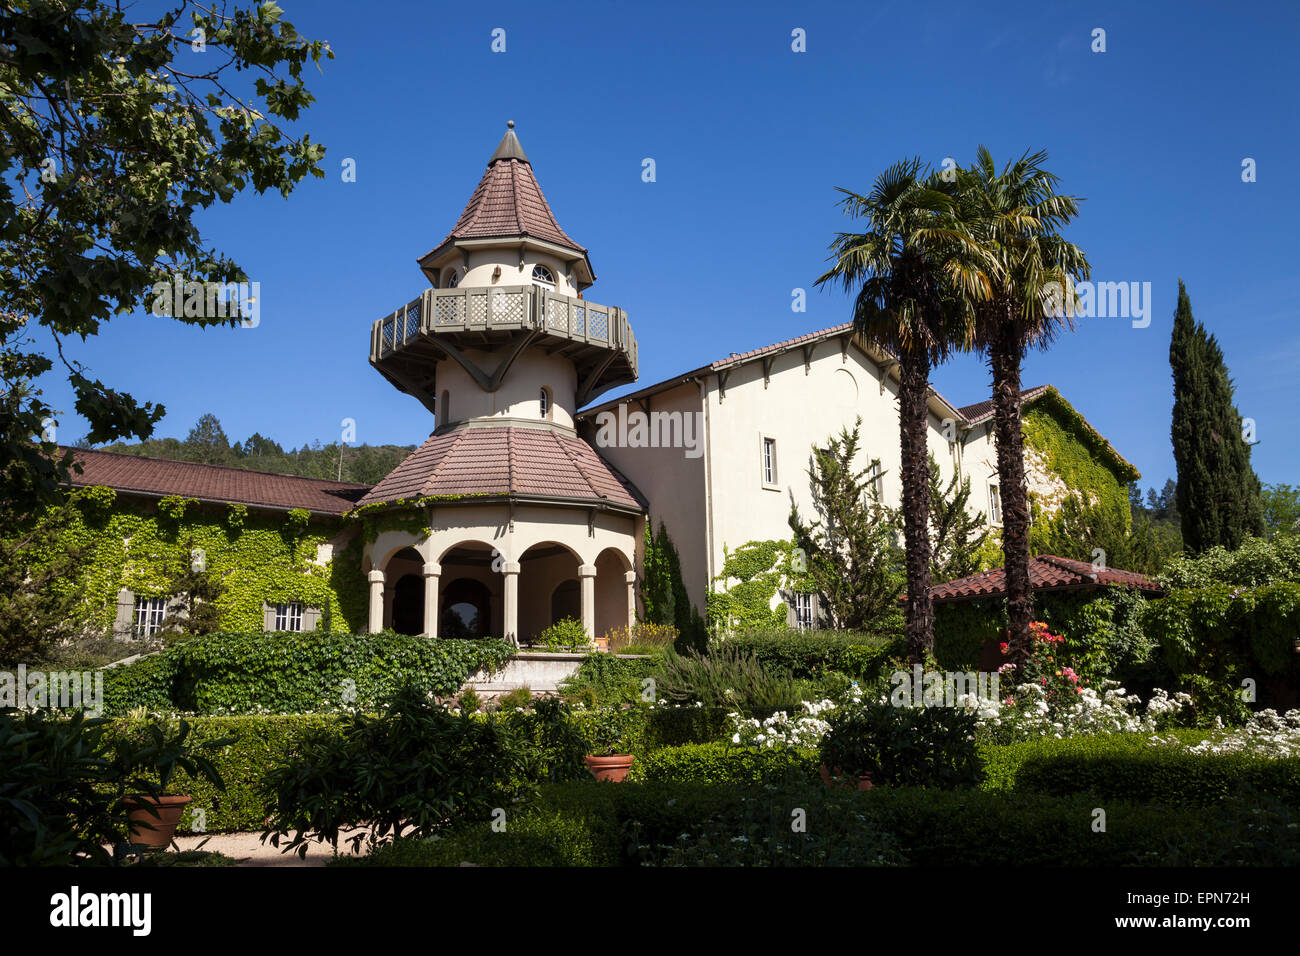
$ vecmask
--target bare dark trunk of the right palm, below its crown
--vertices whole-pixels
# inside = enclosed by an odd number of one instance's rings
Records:
[[[1034,592],[1030,587],[1030,502],[1024,489],[1024,436],[1020,431],[1020,360],[1023,347],[1013,316],[1002,317],[989,347],[993,371],[993,436],[1002,501],[1002,558],[1006,568],[1009,656],[1022,663],[1030,654]]]

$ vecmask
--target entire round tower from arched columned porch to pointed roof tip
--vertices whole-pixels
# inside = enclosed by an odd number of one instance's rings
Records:
[[[369,630],[526,641],[563,618],[630,626],[645,498],[573,427],[636,381],[627,315],[584,298],[586,250],[551,212],[514,124],[429,281],[370,328],[370,364],[436,416],[359,502],[417,512],[364,548]]]

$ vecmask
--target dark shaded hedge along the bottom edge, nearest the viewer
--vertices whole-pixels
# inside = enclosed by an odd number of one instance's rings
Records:
[[[820,784],[593,782],[546,787],[503,831],[469,825],[363,865],[776,864],[915,866],[1296,865],[1294,810],[1114,803],[1035,793]],[[793,814],[806,814],[793,834]],[[1261,834],[1262,829],[1262,834]],[[1260,839],[1265,835],[1266,839]]]

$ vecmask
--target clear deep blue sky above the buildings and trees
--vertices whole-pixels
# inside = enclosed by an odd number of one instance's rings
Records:
[[[426,285],[416,256],[515,120],[560,225],[590,250],[589,298],[629,313],[642,384],[846,321],[842,293],[812,289],[850,225],[836,186],[866,191],[910,155],[1046,148],[1086,199],[1070,238],[1093,278],[1150,282],[1152,323],[1083,320],[1028,359],[1024,384],[1058,386],[1144,485],[1164,484],[1183,277],[1257,421],[1257,472],[1300,483],[1295,3],[281,5],[335,52],[302,124],[328,146],[326,177],[202,220],[261,282],[261,324],[122,316],[72,350],[164,403],[157,436],[183,438],[211,411],[231,440],[329,442],[352,418],[358,441],[421,441],[428,412],[367,362],[370,323]],[[490,49],[495,27],[504,53]],[[796,27],[805,53],[790,49]],[[1089,49],[1095,27],[1105,53]],[[1257,182],[1242,182],[1244,157]],[[794,287],[809,290],[805,313]],[[60,440],[84,433],[61,380],[43,385],[66,411]],[[966,356],[935,385],[967,405],[987,397],[988,372]]]

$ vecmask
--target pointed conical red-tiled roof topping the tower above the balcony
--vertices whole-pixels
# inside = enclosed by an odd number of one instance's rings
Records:
[[[488,160],[488,172],[469,196],[465,211],[451,233],[436,248],[455,239],[533,238],[586,254],[555,221],[542,187],[533,176],[524,147],[515,135],[514,122],[502,138],[497,152]]]

